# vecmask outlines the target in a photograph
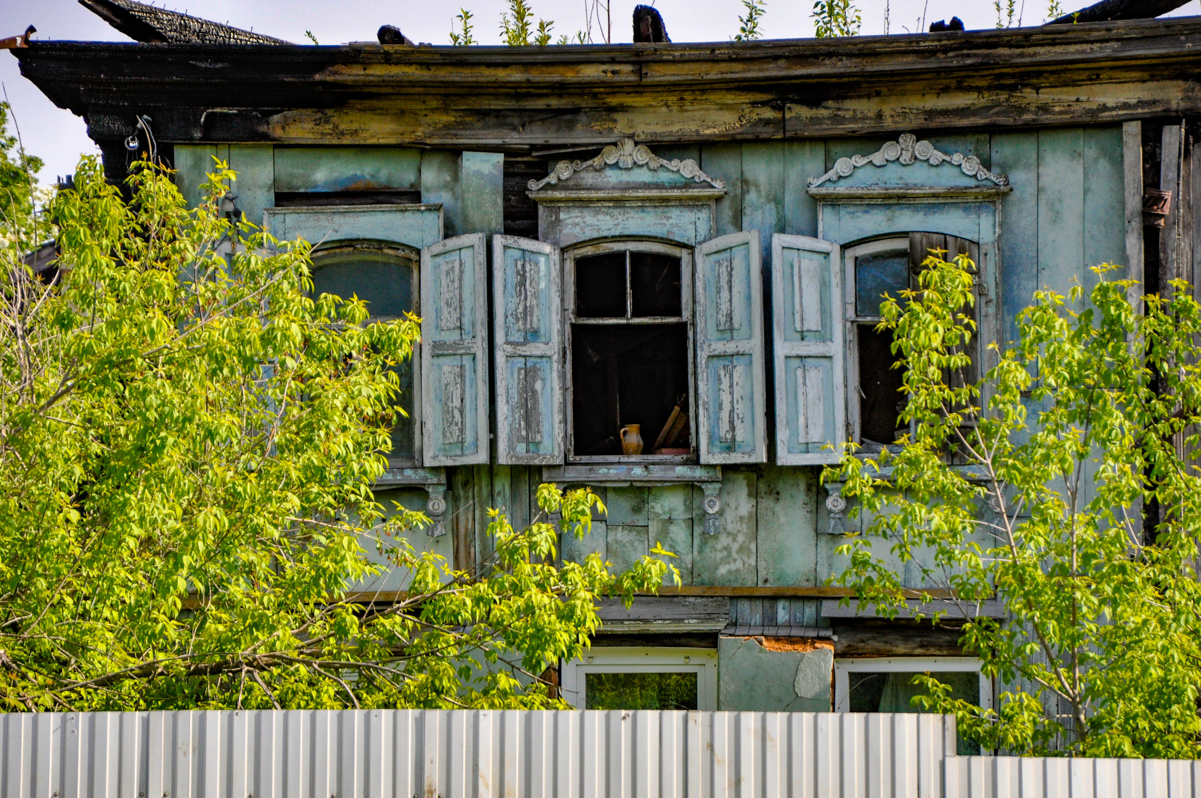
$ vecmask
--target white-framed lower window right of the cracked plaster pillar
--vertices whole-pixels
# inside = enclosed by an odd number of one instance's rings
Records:
[[[951,698],[992,708],[992,679],[980,673],[980,660],[946,657],[862,657],[835,660],[833,703],[839,713],[920,713],[913,698],[924,695],[913,684],[918,674],[930,674],[951,687]],[[980,745],[960,738],[960,756],[978,756]]]

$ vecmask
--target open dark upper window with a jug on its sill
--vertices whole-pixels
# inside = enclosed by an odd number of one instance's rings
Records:
[[[691,252],[603,244],[566,267],[570,457],[693,459]]]

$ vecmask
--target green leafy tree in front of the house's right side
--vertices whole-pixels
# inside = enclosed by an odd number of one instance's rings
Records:
[[[836,582],[888,614],[918,598],[920,617],[962,624],[961,644],[1005,690],[996,710],[951,699],[928,677],[916,701],[954,711],[985,749],[1196,757],[1201,305],[1191,287],[1146,297],[1146,315],[1128,300],[1135,284],[1106,279],[1113,267],[1094,269],[1087,302],[1078,287],[1066,298],[1040,291],[1018,314],[1017,344],[993,346],[985,377],[970,382],[974,266],[939,254],[924,267],[919,291],[884,302],[879,327],[895,337],[901,418],[915,431],[895,454],[847,454],[823,475],[846,481],[842,494],[870,519],[839,548],[848,565]],[[1177,437],[1194,454],[1178,454]],[[948,465],[952,453],[964,465]],[[1153,501],[1164,511],[1149,541],[1141,508]],[[974,619],[993,597],[1009,619]]]

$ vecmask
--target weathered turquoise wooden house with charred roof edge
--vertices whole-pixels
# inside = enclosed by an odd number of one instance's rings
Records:
[[[894,677],[915,669],[987,703],[954,629],[856,614],[826,585],[855,523],[819,483],[826,447],[895,440],[879,296],[930,248],[969,254],[987,365],[1036,288],[1115,263],[1154,291],[1201,251],[1201,18],[301,47],[88,5],[138,42],[14,53],[113,178],[151,133],[192,202],[228,160],[237,212],[319,243],[318,291],[423,317],[378,488],[438,522],[426,547],[477,561],[485,508],[522,524],[554,482],[608,506],[564,559],[677,554],[682,588],[607,607],[562,663],[580,707],[605,674],[683,674],[673,705],[900,710]]]

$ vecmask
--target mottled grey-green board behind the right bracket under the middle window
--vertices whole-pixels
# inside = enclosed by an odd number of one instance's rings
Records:
[[[693,535],[693,582],[709,585],[754,585],[758,583],[755,471],[723,469],[721,530],[716,535]],[[693,490],[694,518],[704,518],[700,488]],[[698,524],[699,526],[699,524]]]

